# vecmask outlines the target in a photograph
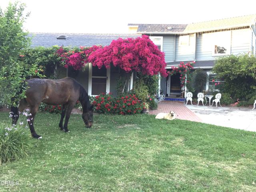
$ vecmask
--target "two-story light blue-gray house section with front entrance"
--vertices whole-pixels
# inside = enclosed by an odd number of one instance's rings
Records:
[[[192,24],[128,24],[129,31],[146,34],[165,53],[166,69],[180,62],[196,61],[194,69],[208,74],[205,90],[214,90],[214,60],[230,54],[256,54],[256,14]],[[160,89],[168,97],[180,97],[179,74],[162,78]],[[186,94],[186,87],[184,87]]]

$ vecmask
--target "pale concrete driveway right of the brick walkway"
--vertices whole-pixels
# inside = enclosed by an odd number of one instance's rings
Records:
[[[256,132],[256,110],[240,107],[186,105],[204,123]]]

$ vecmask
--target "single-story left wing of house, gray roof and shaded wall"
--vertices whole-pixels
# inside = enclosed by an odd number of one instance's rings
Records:
[[[93,45],[109,45],[112,40],[118,38],[136,38],[140,34],[57,34],[57,33],[31,33],[32,45],[31,47],[44,46],[51,47],[58,46],[93,46]],[[86,64],[83,70],[73,70],[72,68],[66,69],[59,67],[58,78],[66,76],[76,79],[86,89],[89,95],[98,95],[102,92],[112,92],[116,96],[116,82],[118,77],[126,76],[125,72],[120,71],[118,68],[111,66],[110,69],[92,66]],[[132,89],[132,84],[135,76],[130,77],[128,90]]]

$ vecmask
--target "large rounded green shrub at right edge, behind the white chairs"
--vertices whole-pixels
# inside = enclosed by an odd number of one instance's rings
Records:
[[[256,57],[251,54],[219,57],[215,61],[213,72],[224,84],[220,92],[229,93],[232,98],[249,100],[248,95],[256,92]]]

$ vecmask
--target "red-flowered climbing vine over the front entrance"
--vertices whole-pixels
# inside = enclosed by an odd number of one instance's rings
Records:
[[[180,62],[180,65],[178,67],[172,66],[172,71],[168,71],[168,74],[175,75],[176,73],[180,73],[180,86],[183,87],[186,83],[189,81],[186,80],[186,73],[188,73],[191,69],[193,69],[193,62],[188,62],[187,64],[184,64],[184,62]]]

